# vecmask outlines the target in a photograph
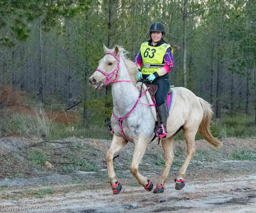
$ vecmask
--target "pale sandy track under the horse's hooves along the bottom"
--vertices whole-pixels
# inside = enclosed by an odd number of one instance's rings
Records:
[[[56,187],[65,187],[57,185]],[[72,185],[68,185],[71,187]],[[163,194],[145,192],[142,187],[123,185],[122,193],[111,188],[54,193],[44,198],[1,199],[0,208],[17,212],[256,212],[256,174],[186,183],[183,190],[166,184]],[[10,189],[9,193],[15,193]],[[8,193],[6,191],[6,193]],[[18,194],[19,191],[16,190]],[[30,208],[28,211],[22,211]],[[25,209],[26,210],[26,209]],[[12,212],[12,211],[9,211]]]

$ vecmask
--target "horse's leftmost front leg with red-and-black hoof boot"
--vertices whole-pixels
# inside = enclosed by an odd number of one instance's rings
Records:
[[[118,152],[128,141],[125,140],[123,137],[119,137],[117,135],[113,135],[113,139],[111,142],[111,146],[106,154],[106,161],[108,167],[108,177],[111,182],[113,194],[118,194],[121,189],[122,185],[119,181],[116,180],[116,174],[113,168],[113,156],[116,152]]]

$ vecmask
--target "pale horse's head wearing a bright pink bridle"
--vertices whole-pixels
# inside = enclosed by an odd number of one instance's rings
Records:
[[[108,49],[103,45],[105,56],[99,60],[99,66],[93,75],[89,78],[90,86],[94,89],[101,89],[102,86],[107,85],[113,78],[117,78],[120,62],[119,46],[113,49]]]

